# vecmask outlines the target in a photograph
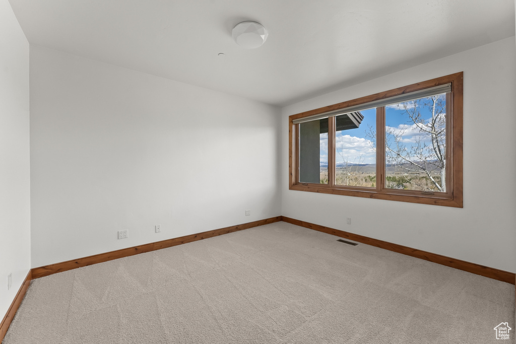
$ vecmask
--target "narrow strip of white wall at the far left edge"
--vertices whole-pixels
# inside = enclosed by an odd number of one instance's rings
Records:
[[[0,42],[2,320],[30,269],[29,44],[7,0],[0,0]]]

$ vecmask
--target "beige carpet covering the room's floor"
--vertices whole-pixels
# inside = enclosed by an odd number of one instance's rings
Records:
[[[513,285],[336,239],[278,222],[43,277],[4,344],[485,344],[516,327]]]

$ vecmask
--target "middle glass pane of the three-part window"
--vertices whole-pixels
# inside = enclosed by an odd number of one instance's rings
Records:
[[[335,184],[376,186],[376,109],[335,118]]]

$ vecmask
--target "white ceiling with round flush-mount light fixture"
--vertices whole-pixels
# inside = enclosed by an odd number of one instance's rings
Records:
[[[9,1],[31,44],[274,105],[515,33],[514,0]],[[232,40],[246,20],[262,47]]]

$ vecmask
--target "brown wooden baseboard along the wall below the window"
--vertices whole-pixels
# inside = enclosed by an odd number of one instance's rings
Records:
[[[469,261],[464,261],[460,259],[450,258],[446,256],[442,256],[440,254],[435,254],[431,252],[421,251],[417,249],[413,249],[407,246],[398,245],[392,242],[378,240],[374,238],[369,238],[363,235],[353,234],[349,232],[344,232],[340,230],[335,230],[334,228],[321,226],[318,224],[313,224],[310,222],[304,222],[296,219],[291,219],[286,216],[282,216],[282,221],[292,223],[301,227],[310,228],[315,231],[328,233],[331,235],[335,235],[341,238],[347,238],[353,241],[362,242],[368,245],[372,245],[375,247],[379,247],[381,249],[405,254],[408,256],[424,259],[431,261],[432,263],[437,263],[441,265],[448,266],[450,268],[455,268],[467,272],[471,272],[477,275],[489,277],[493,280],[498,280],[502,282],[507,282],[510,284],[516,285],[516,274],[504,270],[498,270],[494,268],[490,268],[483,265],[478,265],[475,263],[470,263]]]

